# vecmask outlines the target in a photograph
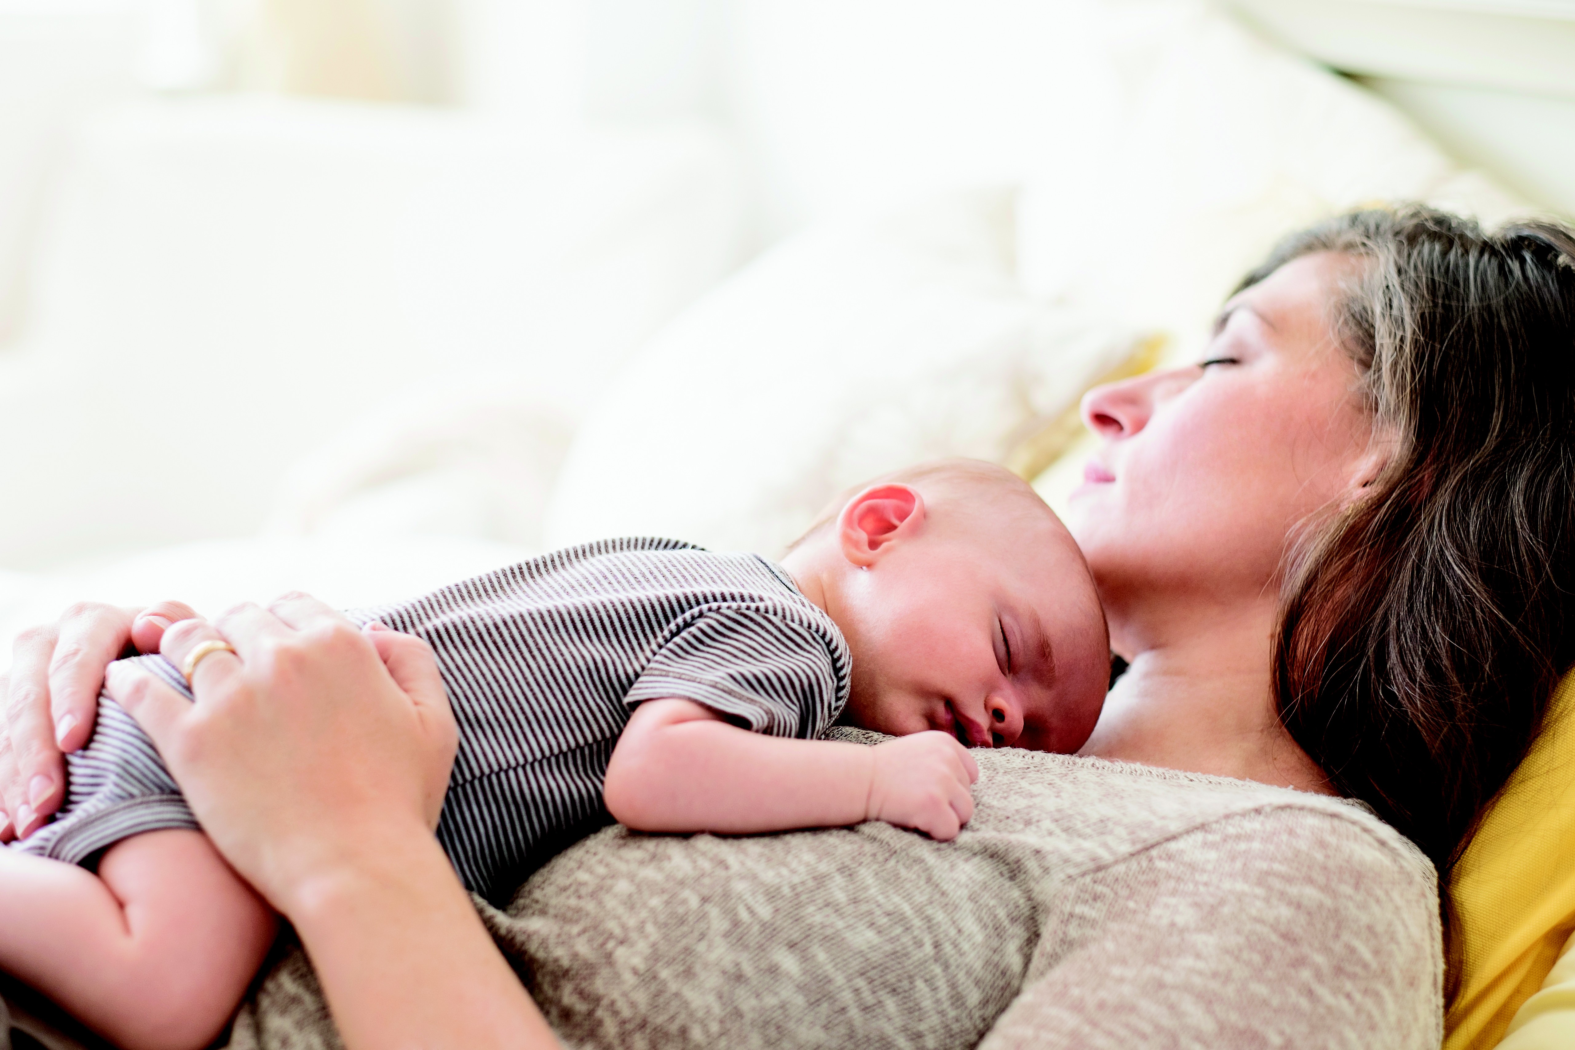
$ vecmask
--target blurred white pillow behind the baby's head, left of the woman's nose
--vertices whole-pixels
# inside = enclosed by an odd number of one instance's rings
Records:
[[[575,436],[547,545],[658,534],[773,554],[871,475],[1005,458],[1136,343],[1022,293],[1013,200],[953,194],[805,233],[710,293]]]

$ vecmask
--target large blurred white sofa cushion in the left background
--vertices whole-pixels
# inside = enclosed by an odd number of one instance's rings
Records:
[[[734,266],[713,132],[543,137],[208,98],[82,134],[0,359],[0,564],[243,535],[362,412],[487,381],[572,416]]]

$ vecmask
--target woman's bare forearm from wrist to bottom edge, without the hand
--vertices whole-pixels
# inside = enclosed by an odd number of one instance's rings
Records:
[[[350,1050],[558,1047],[430,836],[282,904]]]

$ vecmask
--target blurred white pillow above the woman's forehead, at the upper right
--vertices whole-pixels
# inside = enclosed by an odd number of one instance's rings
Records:
[[[1129,101],[1107,140],[1025,184],[1019,258],[1038,296],[1120,310],[1186,354],[1235,282],[1317,219],[1394,200],[1485,222],[1523,209],[1383,99],[1206,3],[1106,8],[1098,46]]]

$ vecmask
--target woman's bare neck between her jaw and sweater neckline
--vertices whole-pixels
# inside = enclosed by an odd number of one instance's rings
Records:
[[[1273,603],[1194,609],[1139,645],[1082,754],[1332,793],[1274,710],[1273,623]]]

